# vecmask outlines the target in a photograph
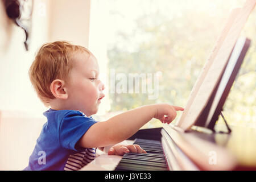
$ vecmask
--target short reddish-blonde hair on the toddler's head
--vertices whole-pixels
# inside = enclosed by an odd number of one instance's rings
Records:
[[[82,46],[76,46],[66,41],[56,41],[43,44],[36,53],[28,75],[36,90],[36,94],[45,106],[54,99],[50,85],[55,79],[66,80],[72,68],[72,54],[76,51],[92,53]]]

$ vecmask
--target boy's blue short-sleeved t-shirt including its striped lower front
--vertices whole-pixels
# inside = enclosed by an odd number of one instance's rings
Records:
[[[43,113],[47,122],[24,170],[78,170],[95,159],[95,148],[82,148],[77,142],[96,121],[76,110]]]

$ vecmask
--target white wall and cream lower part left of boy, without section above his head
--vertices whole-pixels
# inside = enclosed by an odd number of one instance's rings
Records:
[[[23,44],[24,31],[7,18],[0,1],[1,170],[20,170],[26,167],[40,128],[45,122],[42,112],[46,107],[32,89],[28,68],[36,49],[48,40],[48,6],[47,0],[35,1],[31,44],[27,52]],[[38,13],[42,7],[46,7],[45,14]]]

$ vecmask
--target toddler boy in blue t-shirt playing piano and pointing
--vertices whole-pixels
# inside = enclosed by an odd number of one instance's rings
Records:
[[[84,47],[58,41],[39,49],[29,76],[38,97],[51,109],[43,113],[47,122],[26,170],[78,170],[95,158],[96,148],[105,147],[109,155],[146,153],[138,145],[120,142],[152,118],[170,123],[176,110],[183,110],[168,104],[146,105],[97,122],[92,115],[104,98],[98,75],[96,57]]]

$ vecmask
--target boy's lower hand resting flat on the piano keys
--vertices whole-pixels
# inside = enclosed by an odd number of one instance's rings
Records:
[[[108,155],[124,155],[125,153],[128,153],[128,152],[144,153],[144,154],[147,153],[138,144],[130,144],[130,145],[117,144],[109,149]]]

